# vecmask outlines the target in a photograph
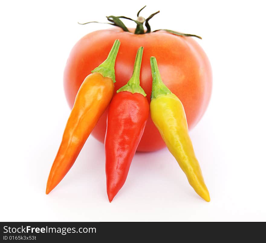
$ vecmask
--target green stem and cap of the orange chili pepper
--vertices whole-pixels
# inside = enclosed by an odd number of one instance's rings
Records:
[[[109,52],[108,57],[102,64],[100,64],[97,68],[93,69],[91,72],[99,72],[103,77],[111,78],[115,83],[115,59],[118,53],[118,49],[120,46],[120,41],[115,40],[111,51]]]

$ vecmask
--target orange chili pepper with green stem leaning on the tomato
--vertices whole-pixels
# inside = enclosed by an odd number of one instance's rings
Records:
[[[62,142],[47,181],[48,194],[63,179],[74,164],[92,129],[109,105],[115,82],[115,59],[120,41],[115,40],[107,59],[92,70],[76,95],[66,123]]]

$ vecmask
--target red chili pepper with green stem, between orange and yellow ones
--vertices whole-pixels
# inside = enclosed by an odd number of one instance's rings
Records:
[[[143,47],[140,47],[131,79],[117,91],[108,110],[105,171],[110,202],[126,181],[149,116],[149,104],[139,80],[142,53]]]

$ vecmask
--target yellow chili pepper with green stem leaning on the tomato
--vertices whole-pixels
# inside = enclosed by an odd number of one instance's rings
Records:
[[[156,58],[151,57],[150,61],[152,74],[151,119],[161,133],[167,148],[185,172],[189,184],[200,197],[209,202],[209,191],[204,183],[200,165],[188,134],[183,104],[162,82]]]

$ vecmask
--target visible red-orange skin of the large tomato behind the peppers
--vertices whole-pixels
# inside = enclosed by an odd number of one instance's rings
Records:
[[[155,56],[165,85],[183,103],[189,129],[203,116],[212,90],[212,71],[209,59],[193,37],[181,37],[165,31],[133,34],[120,28],[97,30],[81,38],[70,52],[64,71],[66,99],[72,108],[84,78],[102,63],[116,39],[121,42],[115,62],[115,92],[131,78],[135,55],[144,47],[140,85],[151,96],[150,57]],[[100,118],[92,135],[104,142],[107,110]],[[149,115],[137,151],[149,152],[165,147],[160,133]]]

